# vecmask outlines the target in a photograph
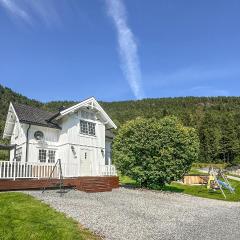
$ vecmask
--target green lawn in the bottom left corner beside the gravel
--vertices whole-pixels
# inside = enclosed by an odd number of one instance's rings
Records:
[[[48,205],[23,193],[0,193],[0,240],[100,239]]]

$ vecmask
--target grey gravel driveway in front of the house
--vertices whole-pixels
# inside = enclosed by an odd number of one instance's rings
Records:
[[[25,191],[105,239],[240,239],[240,203],[177,193],[116,189],[107,193]]]

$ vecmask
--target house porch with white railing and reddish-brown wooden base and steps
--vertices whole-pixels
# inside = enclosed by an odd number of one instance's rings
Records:
[[[63,186],[80,191],[111,191],[119,186],[113,165],[100,166],[97,176],[79,176],[74,165],[0,161],[0,191],[54,188],[60,184],[61,172]]]

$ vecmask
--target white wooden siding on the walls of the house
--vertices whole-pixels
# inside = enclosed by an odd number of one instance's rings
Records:
[[[89,119],[87,118],[89,116]],[[95,123],[96,136],[89,136],[80,133],[80,119]],[[13,135],[11,138],[12,144],[22,146],[22,161],[26,158],[26,136],[28,124],[16,123],[19,126],[19,135]],[[68,114],[59,121],[61,130],[31,125],[29,129],[29,147],[28,147],[28,162],[38,162],[39,149],[56,150],[56,158],[61,159],[63,166],[68,166],[69,171],[65,172],[65,176],[79,176],[81,172],[81,158],[85,152],[89,154],[91,165],[91,175],[98,175],[100,167],[105,164],[105,123],[94,112],[91,114],[82,115],[81,111],[73,114]],[[36,131],[42,131],[44,141],[37,141],[34,138]],[[14,129],[15,132],[15,129]],[[74,149],[74,151],[73,151]],[[110,152],[110,143],[107,145],[107,154]],[[11,153],[13,157],[13,152]],[[71,170],[72,169],[72,170]],[[86,168],[87,169],[87,168]]]

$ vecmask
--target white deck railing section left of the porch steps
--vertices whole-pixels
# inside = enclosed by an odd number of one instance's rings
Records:
[[[59,178],[59,166],[54,163],[21,163],[0,161],[0,179],[16,178]]]

